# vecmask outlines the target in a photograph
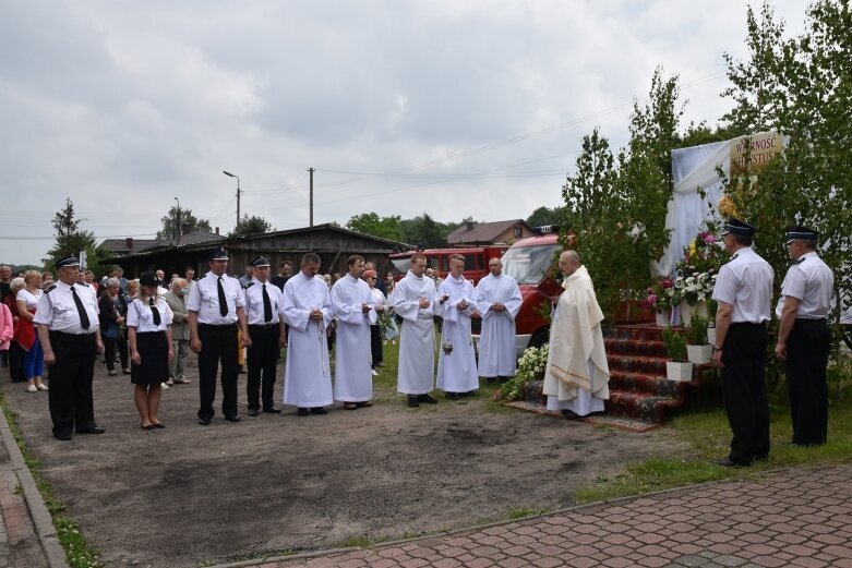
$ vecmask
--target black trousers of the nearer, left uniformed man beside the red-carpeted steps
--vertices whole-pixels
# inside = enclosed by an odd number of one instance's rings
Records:
[[[765,324],[731,324],[722,346],[724,410],[733,432],[728,458],[734,463],[751,464],[769,455],[768,343]]]

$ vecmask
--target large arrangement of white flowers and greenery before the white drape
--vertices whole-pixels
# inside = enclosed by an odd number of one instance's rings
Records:
[[[683,251],[683,258],[675,266],[674,287],[689,305],[709,299],[719,268],[727,262],[728,255],[717,244],[710,231],[701,231]]]

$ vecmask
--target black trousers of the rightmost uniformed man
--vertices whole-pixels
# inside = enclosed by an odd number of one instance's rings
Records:
[[[787,339],[787,384],[793,444],[825,444],[828,434],[826,366],[831,331],[825,319],[797,318]]]

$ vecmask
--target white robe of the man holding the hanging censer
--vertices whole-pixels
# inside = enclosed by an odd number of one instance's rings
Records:
[[[469,392],[479,388],[477,356],[473,353],[473,338],[470,335],[470,314],[473,312],[473,285],[463,276],[459,279],[448,276],[437,287],[437,299],[449,294],[435,310],[444,318],[441,334],[441,347],[437,350],[437,388],[445,392]],[[459,310],[460,302],[467,302]],[[453,343],[453,351],[444,353],[444,342]]]

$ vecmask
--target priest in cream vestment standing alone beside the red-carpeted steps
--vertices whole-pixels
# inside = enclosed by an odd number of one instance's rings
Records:
[[[610,367],[601,331],[603,312],[588,270],[575,251],[560,255],[560,269],[565,291],[551,315],[543,394],[548,410],[577,419],[603,412],[603,401],[610,398]]]

